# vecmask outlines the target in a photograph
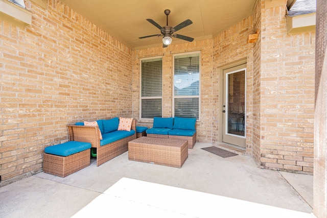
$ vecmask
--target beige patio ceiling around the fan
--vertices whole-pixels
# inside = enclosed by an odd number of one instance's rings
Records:
[[[171,10],[169,26],[191,19],[193,24],[177,34],[201,40],[212,38],[252,14],[256,0],[61,0],[64,4],[119,39],[131,49],[162,46],[162,37],[139,39],[160,34],[146,19],[166,26],[166,9]],[[173,43],[187,42],[173,38]]]

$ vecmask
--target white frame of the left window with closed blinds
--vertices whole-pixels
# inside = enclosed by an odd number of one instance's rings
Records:
[[[151,60],[151,59],[158,59],[161,58],[161,96],[155,96],[155,97],[142,97],[142,61],[144,60]],[[151,122],[153,121],[153,118],[143,118],[142,117],[142,100],[143,99],[161,99],[161,116],[162,116],[162,91],[163,91],[163,71],[164,65],[163,65],[163,56],[154,56],[154,57],[147,57],[147,58],[140,58],[139,59],[139,120],[142,120],[142,122]]]

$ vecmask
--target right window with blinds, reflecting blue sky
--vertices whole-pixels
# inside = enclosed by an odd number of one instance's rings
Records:
[[[174,116],[199,119],[200,53],[174,56]]]

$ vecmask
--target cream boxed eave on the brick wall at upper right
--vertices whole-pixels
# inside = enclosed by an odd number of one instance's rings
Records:
[[[303,14],[298,16],[286,16],[288,34],[316,31],[316,13]]]

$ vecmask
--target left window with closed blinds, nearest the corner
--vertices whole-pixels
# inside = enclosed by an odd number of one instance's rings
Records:
[[[162,58],[141,60],[140,118],[162,116]]]

